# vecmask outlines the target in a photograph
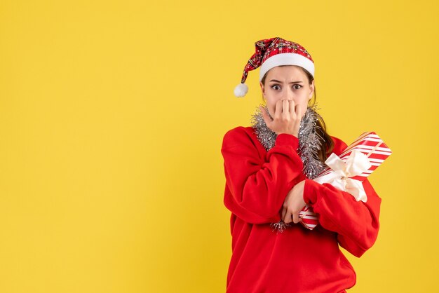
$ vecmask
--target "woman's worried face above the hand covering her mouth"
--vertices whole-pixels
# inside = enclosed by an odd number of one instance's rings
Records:
[[[314,91],[314,81],[309,84],[305,72],[295,65],[273,67],[266,74],[265,84],[260,86],[272,117],[278,100],[294,101],[296,113],[304,114]]]

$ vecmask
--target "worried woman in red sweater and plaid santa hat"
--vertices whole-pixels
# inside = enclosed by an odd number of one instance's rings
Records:
[[[227,292],[346,292],[356,273],[339,245],[356,257],[372,247],[381,198],[367,179],[366,202],[312,180],[347,146],[315,111],[311,55],[281,38],[255,45],[235,95],[245,95],[248,71],[260,67],[266,105],[251,127],[229,130],[221,150],[231,211]],[[306,204],[319,216],[313,230],[300,224]]]

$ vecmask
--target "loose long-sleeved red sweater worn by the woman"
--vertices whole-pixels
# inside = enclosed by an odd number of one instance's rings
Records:
[[[278,135],[267,152],[254,131],[234,128],[222,143],[224,205],[231,211],[232,236],[227,292],[345,292],[355,285],[356,273],[339,245],[356,257],[372,247],[381,198],[367,179],[366,203],[305,179],[297,137]],[[346,144],[332,139],[333,152],[341,154]],[[283,233],[273,232],[269,224],[280,221],[285,196],[304,179],[304,200],[320,215],[320,224],[310,231],[291,223]]]

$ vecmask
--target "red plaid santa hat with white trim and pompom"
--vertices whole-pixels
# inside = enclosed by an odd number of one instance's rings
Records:
[[[314,76],[314,62],[308,51],[298,43],[286,41],[281,38],[271,38],[257,41],[255,43],[256,52],[250,57],[244,67],[241,83],[236,86],[234,94],[236,97],[243,97],[248,92],[245,84],[248,71],[261,67],[259,71],[259,81],[271,68],[280,65],[297,65],[306,69]]]

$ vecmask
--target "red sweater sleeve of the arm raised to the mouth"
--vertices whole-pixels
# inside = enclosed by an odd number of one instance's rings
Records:
[[[221,149],[226,177],[224,205],[248,223],[278,222],[283,200],[302,174],[298,146],[297,137],[283,133],[262,158],[245,128],[229,130]]]

